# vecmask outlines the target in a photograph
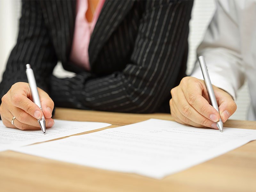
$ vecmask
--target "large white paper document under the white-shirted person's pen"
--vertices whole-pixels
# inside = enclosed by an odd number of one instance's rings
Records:
[[[256,139],[256,130],[195,128],[149,119],[15,149],[35,156],[161,179]]]

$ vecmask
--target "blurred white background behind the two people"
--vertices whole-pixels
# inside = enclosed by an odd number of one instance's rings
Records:
[[[20,9],[19,0],[0,0],[0,81],[2,80],[2,73],[9,54],[16,43]],[[196,47],[202,41],[205,29],[211,20],[214,10],[214,0],[194,1],[189,33],[188,74],[196,60]],[[60,64],[55,71],[58,71],[58,74],[61,74],[60,76],[68,75],[67,72],[61,69]],[[236,103],[237,110],[231,118],[245,120],[250,103],[247,84],[240,89]]]

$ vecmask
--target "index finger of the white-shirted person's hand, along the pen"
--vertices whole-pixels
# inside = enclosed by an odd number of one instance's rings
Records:
[[[202,96],[202,92],[205,92],[204,89],[206,90],[205,85],[198,82],[195,86],[182,87],[182,92],[189,105],[192,106],[199,114],[213,122],[217,122],[220,120],[220,114]]]

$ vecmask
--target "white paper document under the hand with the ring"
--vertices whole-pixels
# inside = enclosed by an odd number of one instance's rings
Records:
[[[22,131],[7,128],[4,126],[3,122],[0,121],[0,151],[99,129],[109,125],[111,124],[54,119],[54,126],[46,129],[46,134],[44,135],[41,130]]]

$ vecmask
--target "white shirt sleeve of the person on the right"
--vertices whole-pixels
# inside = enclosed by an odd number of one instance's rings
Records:
[[[241,9],[236,7],[236,1],[217,1],[216,12],[197,49],[198,56],[205,57],[212,84],[228,92],[234,99],[245,80],[243,42],[238,21],[242,12],[238,13],[238,10]],[[204,79],[198,61],[191,76]]]

